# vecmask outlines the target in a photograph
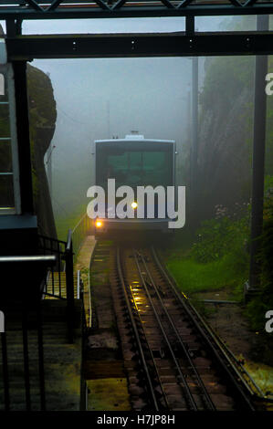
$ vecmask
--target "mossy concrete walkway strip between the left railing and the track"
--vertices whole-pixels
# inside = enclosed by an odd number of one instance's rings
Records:
[[[90,292],[92,323],[83,373],[88,385],[89,411],[130,411],[110,289],[110,246],[99,242],[92,256]]]

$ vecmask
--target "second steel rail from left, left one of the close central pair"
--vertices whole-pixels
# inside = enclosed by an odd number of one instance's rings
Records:
[[[190,390],[190,388],[189,388],[189,386],[188,386],[188,383],[186,382],[186,380],[185,380],[185,378],[184,378],[184,374],[183,374],[183,372],[181,371],[180,364],[179,364],[179,362],[177,361],[177,359],[176,359],[176,357],[175,357],[175,354],[174,354],[174,351],[173,351],[172,344],[170,343],[170,341],[169,341],[169,339],[168,339],[168,335],[167,335],[166,331],[165,331],[165,330],[164,330],[164,328],[163,328],[163,323],[162,323],[162,321],[161,321],[161,319],[160,319],[160,317],[159,317],[159,315],[158,315],[158,312],[157,312],[157,310],[155,309],[155,307],[154,307],[154,305],[153,305],[152,298],[151,298],[150,292],[149,292],[149,290],[148,290],[148,288],[147,288],[146,281],[145,281],[145,279],[144,279],[144,277],[143,277],[143,275],[142,275],[142,270],[141,270],[141,267],[140,267],[140,265],[139,265],[139,261],[138,261],[137,256],[136,256],[136,255],[137,255],[137,253],[136,253],[136,250],[135,250],[135,249],[134,249],[134,251],[133,251],[133,255],[134,255],[134,260],[135,260],[136,266],[137,266],[138,271],[139,271],[139,275],[140,275],[140,277],[141,277],[141,279],[142,279],[142,286],[143,286],[143,288],[145,289],[146,295],[147,295],[147,297],[148,297],[148,299],[149,299],[149,301],[150,301],[150,304],[151,304],[151,307],[152,307],[152,310],[153,310],[153,314],[154,314],[154,316],[155,316],[155,318],[156,318],[156,320],[157,320],[157,322],[158,322],[158,325],[159,325],[159,327],[160,327],[160,329],[161,329],[161,331],[162,331],[162,333],[163,333],[164,340],[165,340],[165,342],[166,342],[166,344],[167,344],[167,346],[168,346],[168,349],[169,349],[169,351],[170,351],[170,353],[171,353],[171,355],[172,355],[173,362],[174,362],[174,364],[175,364],[176,370],[178,371],[179,376],[180,376],[180,379],[181,379],[181,381],[183,382],[182,387],[184,388],[184,391],[186,392],[187,399],[189,400],[189,403],[190,403],[190,405],[191,405],[192,409],[193,409],[194,411],[197,411],[197,410],[198,410],[198,407],[197,407],[197,404],[196,404],[196,402],[195,402],[195,400],[194,400],[194,396],[193,396],[193,394],[192,394],[192,392],[191,392],[191,390]]]

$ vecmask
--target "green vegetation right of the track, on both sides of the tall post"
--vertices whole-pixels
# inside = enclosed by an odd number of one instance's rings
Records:
[[[265,314],[273,309],[273,176],[266,177],[264,231],[261,239],[261,288],[247,304],[245,314],[252,330],[263,332]],[[179,288],[190,297],[196,293],[225,290],[230,299],[243,299],[243,285],[249,269],[250,205],[236,204],[228,210],[215,207],[215,218],[202,223],[195,240],[186,238],[186,246],[173,246],[166,256],[166,265]],[[184,241],[184,235],[180,236]],[[271,339],[272,334],[267,334]]]

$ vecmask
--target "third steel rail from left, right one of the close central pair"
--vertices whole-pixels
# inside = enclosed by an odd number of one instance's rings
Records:
[[[148,274],[148,276],[150,278],[150,281],[152,283],[152,287],[154,288],[154,290],[156,292],[156,295],[157,295],[157,297],[158,297],[158,299],[159,299],[159,301],[160,301],[160,303],[162,305],[163,311],[164,311],[165,315],[167,316],[167,318],[169,319],[169,322],[172,325],[172,328],[173,328],[173,331],[175,333],[175,336],[176,336],[177,340],[179,341],[179,343],[180,343],[180,345],[181,345],[181,347],[182,347],[182,349],[184,351],[184,355],[185,355],[187,361],[189,362],[192,370],[194,371],[194,375],[195,375],[195,377],[197,379],[199,387],[201,388],[201,390],[203,391],[203,393],[205,395],[205,401],[208,404],[208,408],[210,410],[215,411],[215,404],[212,402],[211,397],[210,397],[210,395],[208,394],[208,392],[207,392],[207,390],[205,388],[205,384],[204,384],[202,378],[200,377],[199,372],[196,370],[194,362],[193,362],[193,360],[192,360],[189,352],[186,350],[186,346],[184,344],[184,340],[182,340],[181,335],[179,334],[178,330],[176,329],[176,327],[175,327],[175,325],[173,323],[173,319],[172,319],[169,311],[166,309],[166,306],[163,303],[163,298],[161,298],[160,293],[158,291],[158,288],[157,288],[156,284],[153,281],[153,278],[152,278],[152,275],[151,275],[151,271],[150,271],[149,267],[147,266],[144,257],[142,255],[141,255],[141,257],[142,257],[143,266],[145,267],[145,270],[146,270],[146,272],[147,272],[147,274]]]

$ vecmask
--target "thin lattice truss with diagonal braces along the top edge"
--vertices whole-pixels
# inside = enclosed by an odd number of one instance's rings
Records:
[[[270,0],[2,0],[0,19],[268,15]]]

